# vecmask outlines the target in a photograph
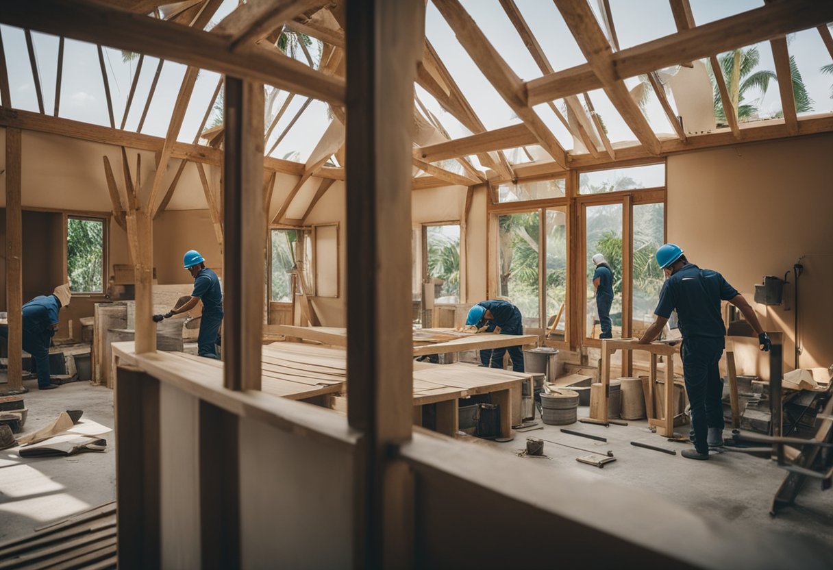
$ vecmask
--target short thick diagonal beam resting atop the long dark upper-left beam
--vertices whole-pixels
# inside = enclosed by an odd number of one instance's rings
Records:
[[[237,52],[241,47],[257,42],[287,20],[295,18],[308,8],[318,6],[321,0],[282,0],[280,2],[247,2],[212,29],[213,33],[228,38],[229,49]]]

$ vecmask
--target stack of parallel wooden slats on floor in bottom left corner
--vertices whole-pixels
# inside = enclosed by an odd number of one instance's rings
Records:
[[[115,568],[116,502],[0,544],[0,568]]]

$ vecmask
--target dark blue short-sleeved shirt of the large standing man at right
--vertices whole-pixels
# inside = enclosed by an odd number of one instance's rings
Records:
[[[663,284],[654,313],[669,318],[676,309],[683,338],[722,338],[726,328],[721,317],[721,300],[728,301],[737,294],[737,289],[726,283],[720,273],[688,263]]]

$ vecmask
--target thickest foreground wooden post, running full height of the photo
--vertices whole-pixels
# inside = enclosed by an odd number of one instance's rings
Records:
[[[347,2],[347,378],[357,446],[356,567],[413,561],[411,438],[413,82],[423,0]],[[247,277],[249,278],[249,277]]]

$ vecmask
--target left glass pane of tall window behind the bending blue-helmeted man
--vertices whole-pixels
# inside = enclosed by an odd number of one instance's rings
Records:
[[[524,327],[540,327],[538,318],[538,212],[498,217],[498,296],[521,310]]]

